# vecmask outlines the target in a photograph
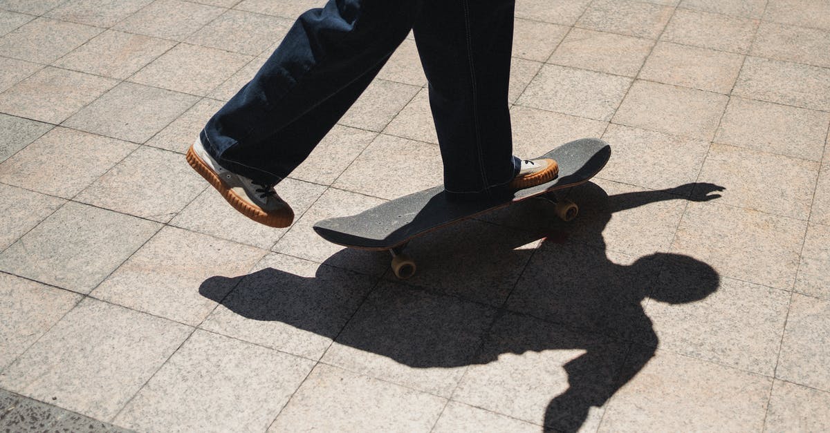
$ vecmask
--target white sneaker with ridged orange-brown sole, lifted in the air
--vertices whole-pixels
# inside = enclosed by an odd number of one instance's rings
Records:
[[[294,211],[276,195],[275,184],[256,183],[222,168],[200,139],[188,149],[188,163],[242,215],[271,227],[291,226]]]

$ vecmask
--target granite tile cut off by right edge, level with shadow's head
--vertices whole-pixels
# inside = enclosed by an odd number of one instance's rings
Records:
[[[808,226],[795,291],[830,300],[830,226]]]

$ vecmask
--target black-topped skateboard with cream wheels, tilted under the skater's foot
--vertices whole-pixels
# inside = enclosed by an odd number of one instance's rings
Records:
[[[326,241],[340,246],[389,251],[392,270],[403,280],[413,276],[417,269],[415,261],[403,254],[403,249],[409,241],[430,231],[533,197],[553,202],[556,215],[564,221],[572,221],[579,213],[579,207],[569,200],[559,200],[555,192],[588,182],[605,167],[610,157],[611,147],[603,140],[574,140],[539,157],[552,158],[559,164],[557,178],[520,189],[513,197],[486,202],[452,202],[447,200],[444,188],[437,186],[384,202],[357,215],[319,221],[314,230]]]

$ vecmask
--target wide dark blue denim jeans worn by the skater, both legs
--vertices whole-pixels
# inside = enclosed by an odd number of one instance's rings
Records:
[[[515,176],[507,92],[514,0],[330,0],[303,13],[201,139],[222,166],[279,182],[305,160],[413,30],[444,186],[501,194]]]

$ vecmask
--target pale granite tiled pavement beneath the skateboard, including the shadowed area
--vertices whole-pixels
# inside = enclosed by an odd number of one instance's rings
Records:
[[[411,39],[294,226],[183,156],[319,3],[0,0],[3,431],[830,431],[830,2],[517,0],[515,153],[613,158],[405,283],[310,226],[441,182]]]

